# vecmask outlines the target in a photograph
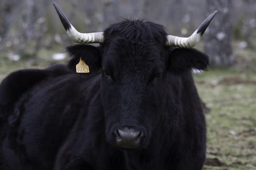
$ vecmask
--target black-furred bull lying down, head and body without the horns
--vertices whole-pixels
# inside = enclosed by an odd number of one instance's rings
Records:
[[[11,73],[0,85],[4,170],[200,170],[206,125],[195,49],[166,47],[162,26],[124,20],[67,65]],[[76,73],[79,58],[90,73]]]

